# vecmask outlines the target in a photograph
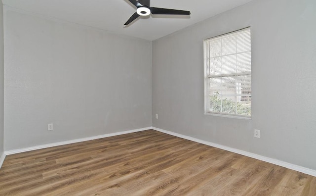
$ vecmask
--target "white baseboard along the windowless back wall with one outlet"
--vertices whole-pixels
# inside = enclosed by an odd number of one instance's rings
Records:
[[[16,154],[16,153],[27,152],[27,151],[37,150],[37,149],[43,149],[43,148],[47,148],[47,147],[57,147],[57,146],[61,146],[61,145],[73,144],[73,143],[78,143],[78,142],[85,142],[85,141],[96,140],[96,139],[100,139],[100,138],[108,138],[108,137],[112,137],[112,136],[129,134],[129,133],[134,133],[134,132],[139,132],[139,131],[145,131],[145,130],[149,130],[149,129],[152,129],[152,127],[134,129],[134,130],[130,130],[130,131],[121,131],[121,132],[104,134],[104,135],[99,135],[99,136],[92,136],[92,137],[81,138],[81,139],[76,139],[76,140],[68,140],[68,141],[64,141],[64,142],[45,144],[45,145],[40,145],[40,146],[35,146],[35,147],[26,147],[26,148],[21,148],[21,149],[8,150],[8,151],[4,151],[4,154],[9,155],[9,154]]]

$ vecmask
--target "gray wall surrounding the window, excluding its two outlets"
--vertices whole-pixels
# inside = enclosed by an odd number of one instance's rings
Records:
[[[154,41],[153,126],[316,170],[315,24],[315,0],[254,0]],[[247,26],[252,120],[203,115],[203,40]]]

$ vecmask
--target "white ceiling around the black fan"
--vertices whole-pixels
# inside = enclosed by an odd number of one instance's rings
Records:
[[[136,12],[128,0],[2,0],[16,9],[113,33],[156,40],[251,0],[151,0],[151,6],[191,11],[190,16],[151,15],[123,24]]]

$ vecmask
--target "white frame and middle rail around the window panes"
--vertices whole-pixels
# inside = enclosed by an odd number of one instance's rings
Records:
[[[246,72],[245,73],[239,73],[239,74],[222,74],[222,75],[216,75],[215,77],[213,76],[208,76],[207,75],[207,57],[206,57],[206,43],[208,40],[210,39],[215,39],[215,38],[219,38],[219,37],[222,37],[222,36],[226,36],[226,35],[230,35],[230,34],[234,34],[234,33],[237,33],[239,31],[243,31],[243,30],[246,30],[246,29],[249,29],[250,30],[250,52],[251,52],[251,68],[250,68],[250,72]],[[245,116],[245,115],[239,115],[239,114],[231,114],[231,113],[224,113],[224,112],[211,112],[209,111],[209,105],[208,105],[208,100],[207,100],[207,89],[208,89],[208,79],[209,78],[216,78],[216,77],[225,77],[225,76],[240,76],[240,75],[250,75],[250,81],[251,81],[251,89],[252,89],[252,74],[251,74],[251,71],[252,71],[252,42],[251,42],[251,27],[248,26],[248,27],[245,27],[245,28],[242,28],[242,29],[239,29],[239,30],[236,30],[236,31],[232,31],[232,32],[229,32],[229,33],[225,33],[225,34],[222,34],[222,35],[218,35],[218,36],[215,36],[215,37],[211,37],[211,38],[207,38],[207,39],[204,39],[203,40],[203,56],[204,56],[204,114],[205,115],[212,115],[212,116],[220,116],[220,117],[228,117],[228,118],[237,118],[237,119],[246,119],[246,120],[251,120],[252,118],[252,113],[251,113],[251,116]],[[252,111],[252,90],[251,90],[251,111]]]

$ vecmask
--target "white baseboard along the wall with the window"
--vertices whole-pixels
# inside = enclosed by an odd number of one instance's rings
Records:
[[[272,163],[272,164],[275,164],[275,165],[278,165],[278,166],[281,166],[281,167],[286,167],[288,169],[292,169],[292,170],[295,170],[295,171],[298,171],[298,172],[302,172],[304,174],[308,174],[308,175],[316,177],[316,170],[313,170],[313,169],[309,169],[309,168],[302,167],[302,166],[299,166],[299,165],[294,165],[292,163],[280,161],[280,160],[277,160],[277,159],[274,159],[274,158],[269,158],[269,157],[266,157],[266,156],[262,156],[262,155],[259,155],[259,154],[255,154],[255,153],[239,150],[239,149],[236,149],[236,148],[226,147],[226,146],[223,146],[223,145],[207,142],[207,141],[204,141],[204,140],[196,139],[196,138],[193,138],[193,137],[190,137],[190,136],[185,136],[185,135],[174,133],[174,132],[171,132],[171,131],[166,131],[166,130],[159,129],[159,128],[156,128],[156,127],[152,127],[152,129],[154,129],[156,131],[159,131],[159,132],[162,132],[162,133],[165,133],[165,134],[169,134],[169,135],[172,135],[172,136],[176,136],[176,137],[179,137],[179,138],[183,138],[183,139],[186,139],[186,140],[191,140],[193,142],[204,144],[204,145],[207,145],[207,146],[217,147],[217,148],[224,149],[224,150],[227,150],[227,151],[231,151],[231,152],[234,152],[234,153],[237,153],[237,154],[241,154],[241,155],[248,156],[248,157],[251,157],[251,158],[255,158],[255,159],[258,159],[258,160],[262,160],[262,161],[265,161],[265,162],[268,162],[268,163]]]

